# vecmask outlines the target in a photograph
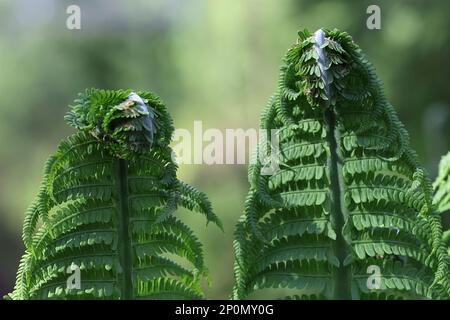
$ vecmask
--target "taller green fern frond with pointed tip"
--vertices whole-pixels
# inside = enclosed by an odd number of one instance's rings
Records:
[[[299,33],[261,128],[277,132],[279,170],[262,175],[259,152],[249,168],[235,299],[449,297],[431,184],[347,33]]]

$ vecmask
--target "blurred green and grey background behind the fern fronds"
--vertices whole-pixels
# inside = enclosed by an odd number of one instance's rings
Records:
[[[66,8],[81,7],[81,30]],[[381,7],[381,30],[366,8]],[[46,158],[72,129],[67,105],[87,87],[151,90],[175,126],[257,128],[280,59],[297,31],[350,32],[432,176],[450,149],[450,2],[318,0],[0,0],[0,297],[13,288],[24,212]],[[232,233],[247,193],[245,165],[182,165],[205,191],[225,234],[186,215],[205,244],[211,299],[233,282]]]

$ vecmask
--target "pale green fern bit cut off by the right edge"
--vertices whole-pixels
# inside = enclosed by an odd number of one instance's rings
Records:
[[[446,227],[442,239],[447,245],[450,255],[450,152],[441,159],[439,174],[433,183],[433,187],[433,203],[438,213],[442,215],[442,222]]]

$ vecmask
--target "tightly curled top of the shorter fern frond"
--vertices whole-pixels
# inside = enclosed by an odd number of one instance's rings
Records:
[[[162,105],[151,93],[88,89],[75,100],[66,121],[89,131],[117,156],[126,158],[133,152],[142,153],[153,143],[168,144],[173,128],[163,126],[166,119],[161,119]]]

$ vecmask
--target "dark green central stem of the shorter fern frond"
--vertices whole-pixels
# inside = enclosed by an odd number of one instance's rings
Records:
[[[122,299],[129,300],[133,298],[132,293],[132,276],[131,276],[131,241],[129,235],[129,211],[128,211],[128,182],[127,182],[127,162],[126,160],[118,160],[117,181],[118,181],[118,248],[119,261],[122,267],[121,283],[122,283]]]

